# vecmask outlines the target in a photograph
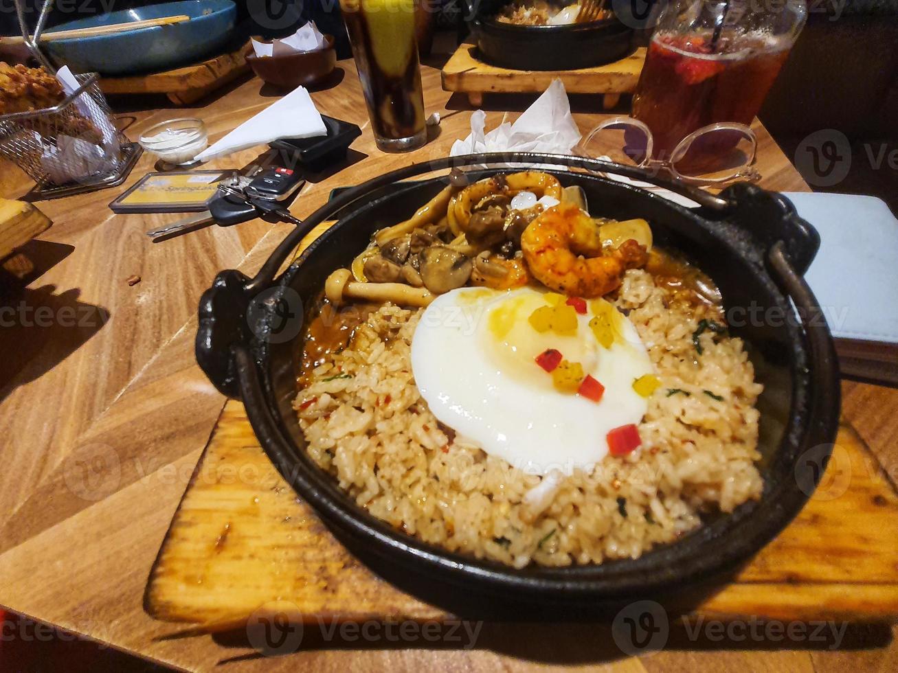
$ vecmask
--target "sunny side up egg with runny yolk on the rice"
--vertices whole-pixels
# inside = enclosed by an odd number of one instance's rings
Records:
[[[531,287],[460,288],[439,296],[418,322],[412,372],[421,396],[443,424],[529,474],[588,470],[609,451],[606,435],[638,424],[647,399],[634,380],[652,372],[636,328],[616,312],[620,337],[609,348],[577,315],[573,334],[537,331],[529,321],[547,306]],[[535,362],[547,349],[580,363],[604,386],[599,402],[556,389]]]

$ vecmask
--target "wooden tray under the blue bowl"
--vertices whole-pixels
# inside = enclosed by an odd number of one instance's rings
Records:
[[[247,42],[236,51],[193,66],[131,77],[104,77],[100,88],[104,93],[165,93],[175,105],[189,105],[249,70],[246,55],[250,49]]]

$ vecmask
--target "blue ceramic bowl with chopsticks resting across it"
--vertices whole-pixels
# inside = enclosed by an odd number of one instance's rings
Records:
[[[56,31],[108,26],[113,23],[159,19],[186,14],[189,21],[154,28],[139,28],[93,38],[47,42],[46,49],[59,66],[76,73],[153,73],[186,66],[223,48],[231,37],[237,14],[232,0],[183,0],[97,14],[67,22]]]

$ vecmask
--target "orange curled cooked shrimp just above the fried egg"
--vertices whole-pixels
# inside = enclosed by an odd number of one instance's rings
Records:
[[[603,254],[599,227],[577,205],[557,205],[527,225],[521,249],[541,284],[577,297],[601,297],[621,284],[628,268],[646,263],[635,240]]]

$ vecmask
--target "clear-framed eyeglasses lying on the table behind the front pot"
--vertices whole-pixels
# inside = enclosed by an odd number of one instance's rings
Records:
[[[581,153],[625,166],[665,172],[691,185],[723,186],[732,180],[756,180],[754,168],[758,139],[744,124],[717,123],[693,131],[674,147],[669,157],[655,149],[652,132],[631,117],[612,117],[590,131]]]

